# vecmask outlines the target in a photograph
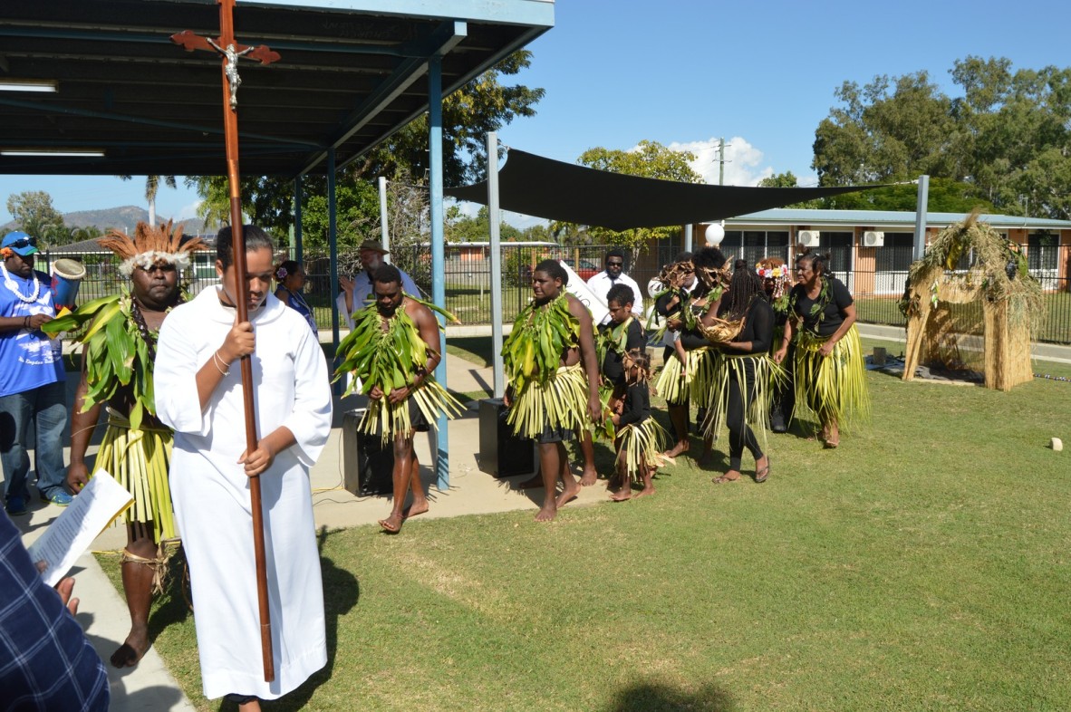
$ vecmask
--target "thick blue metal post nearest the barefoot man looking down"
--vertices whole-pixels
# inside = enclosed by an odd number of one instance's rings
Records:
[[[442,234],[442,58],[433,57],[427,63],[427,146],[431,168],[432,208],[432,301],[442,308],[447,306],[447,285],[444,276],[446,249]],[[442,319],[439,319],[442,324]],[[435,369],[435,379],[447,388],[447,333],[440,330],[439,353],[442,360]],[[450,433],[447,418],[439,416],[438,443],[435,458],[436,486],[450,487]]]

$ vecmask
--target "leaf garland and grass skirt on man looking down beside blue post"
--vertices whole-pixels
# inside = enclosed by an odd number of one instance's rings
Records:
[[[447,320],[459,323],[457,317],[431,302],[410,294],[405,299],[422,304],[432,312],[441,314]],[[358,379],[361,393],[367,395],[377,385],[383,397],[368,402],[365,418],[361,421],[364,433],[379,433],[386,441],[393,433],[408,433],[412,429],[409,408],[406,402],[396,405],[388,403],[387,395],[394,389],[410,385],[423,372],[429,349],[420,337],[417,323],[399,305],[392,317],[383,317],[375,304],[371,304],[353,315],[353,330],[338,345],[341,363],[335,369],[334,380],[344,374],[353,374],[345,395],[353,392]],[[457,399],[442,388],[432,374],[427,374],[419,385],[409,392],[421,413],[434,424],[439,414],[453,418],[462,411]]]

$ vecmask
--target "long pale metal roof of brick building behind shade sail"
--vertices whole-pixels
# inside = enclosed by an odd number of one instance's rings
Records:
[[[915,229],[915,213],[910,211],[887,211],[887,210],[795,210],[790,208],[776,208],[773,210],[763,210],[746,215],[737,215],[725,221],[726,227],[738,227],[741,225],[806,225],[809,227],[884,227],[884,228],[905,228]],[[926,225],[929,227],[948,227],[953,223],[960,223],[967,216],[967,213],[926,213]],[[982,214],[978,218],[998,229],[1027,229],[1027,230],[1068,230],[1071,229],[1071,221],[1051,219],[1047,217],[1024,217],[1022,215],[986,215]]]

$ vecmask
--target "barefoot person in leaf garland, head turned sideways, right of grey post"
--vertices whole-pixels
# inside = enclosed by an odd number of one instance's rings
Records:
[[[502,345],[510,388],[507,424],[539,443],[543,506],[537,521],[549,521],[574,499],[579,485],[569,471],[564,441],[588,419],[602,421],[599,365],[591,314],[563,291],[569,281],[561,264],[543,260],[532,272],[532,301],[517,316]],[[557,482],[563,489],[557,495]]]

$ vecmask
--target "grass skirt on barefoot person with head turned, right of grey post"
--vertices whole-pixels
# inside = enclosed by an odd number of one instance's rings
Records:
[[[547,427],[576,430],[588,423],[588,380],[575,363],[546,382],[529,381],[510,405],[506,423],[522,438],[538,439]]]

